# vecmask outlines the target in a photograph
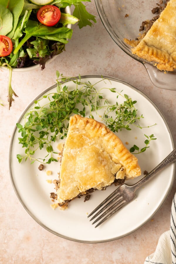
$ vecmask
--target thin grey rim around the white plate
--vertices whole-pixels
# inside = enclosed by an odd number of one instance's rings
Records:
[[[109,79],[109,80],[112,80],[112,81],[115,81],[115,82],[120,82],[120,83],[123,83],[125,85],[127,85],[128,87],[130,87],[131,89],[137,91],[138,93],[140,93],[141,95],[143,95],[154,107],[155,109],[158,111],[158,113],[160,114],[160,116],[163,118],[163,121],[165,122],[165,125],[167,127],[167,130],[170,134],[170,138],[171,138],[171,142],[172,142],[172,147],[173,149],[175,148],[175,144],[174,144],[174,139],[173,139],[173,135],[172,135],[172,131],[170,129],[170,126],[169,124],[167,123],[167,120],[165,119],[165,116],[163,115],[163,113],[161,112],[161,110],[158,108],[158,106],[154,103],[154,101],[152,99],[150,99],[150,97],[148,97],[145,93],[143,93],[141,90],[139,90],[138,88],[132,86],[131,84],[128,84],[127,82],[125,81],[122,81],[120,79],[116,79],[116,78],[113,78],[113,77],[109,77],[109,76],[100,76],[100,75],[84,75],[84,76],[81,76],[81,79],[84,79],[84,78],[105,78],[105,79]],[[72,78],[71,80],[74,80],[74,79],[79,79],[79,77],[74,77]],[[64,82],[63,82],[64,83]],[[49,88],[45,89],[43,92],[41,92],[37,97],[35,97],[35,99],[33,99],[31,101],[31,103],[26,107],[26,109],[23,111],[23,113],[21,114],[21,116],[19,117],[17,123],[20,123],[20,121],[22,120],[24,114],[26,113],[26,111],[32,106],[32,104],[34,103],[35,100],[39,99],[43,94],[45,94],[46,92],[50,91],[51,89],[55,88],[57,86],[57,84],[54,84],[52,86],[50,86]],[[16,186],[13,182],[13,173],[12,173],[12,169],[11,169],[11,150],[12,150],[12,145],[13,145],[13,139],[14,139],[14,135],[15,135],[15,132],[16,132],[16,127],[13,129],[13,132],[12,132],[12,136],[11,136],[11,141],[10,141],[10,146],[9,146],[9,174],[10,174],[10,178],[11,178],[11,183],[12,183],[12,186],[13,186],[13,189],[16,193],[16,196],[18,197],[19,201],[21,202],[22,206],[24,207],[24,209],[28,212],[28,214],[40,225],[42,226],[44,229],[46,229],[47,231],[53,233],[54,235],[56,236],[59,236],[59,237],[62,237],[62,238],[65,238],[67,240],[70,240],[70,241],[75,241],[75,242],[81,242],[81,243],[104,243],[104,242],[109,242],[109,241],[114,241],[116,239],[119,239],[119,238],[122,238],[122,237],[125,237],[125,236],[128,236],[130,235],[131,233],[137,231],[138,229],[140,229],[142,226],[144,226],[146,223],[148,223],[148,221],[150,221],[150,219],[153,218],[153,216],[159,211],[159,209],[162,207],[163,203],[165,202],[167,196],[169,195],[171,189],[172,189],[172,186],[173,186],[173,182],[174,182],[174,175],[175,175],[175,169],[176,169],[176,164],[174,163],[174,170],[173,170],[173,176],[172,176],[172,183],[170,185],[170,189],[167,190],[167,194],[165,195],[165,197],[163,198],[162,202],[160,203],[160,206],[156,209],[156,211],[150,216],[149,219],[147,219],[145,221],[145,223],[141,224],[140,226],[138,226],[136,229],[132,230],[131,232],[128,232],[126,234],[124,234],[123,236],[119,236],[119,237],[116,237],[116,238],[112,238],[112,239],[107,239],[107,240],[97,240],[97,241],[83,241],[83,240],[78,240],[78,239],[74,239],[74,238],[70,238],[68,236],[64,236],[62,234],[59,234],[55,231],[53,231],[52,229],[48,228],[47,226],[45,226],[39,219],[37,219],[37,217],[35,217],[35,215],[33,215],[33,213],[27,208],[26,204],[24,204],[23,200],[21,199],[20,197],[20,194],[18,193],[18,190],[16,189]]]

